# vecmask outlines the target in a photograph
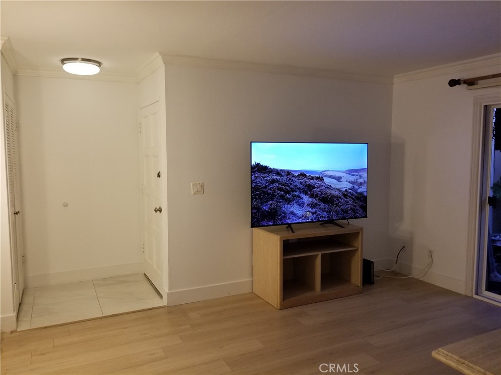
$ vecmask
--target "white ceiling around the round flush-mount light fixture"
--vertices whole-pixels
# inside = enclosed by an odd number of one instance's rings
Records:
[[[501,1],[1,1],[20,69],[156,52],[393,76],[501,52]],[[493,72],[494,73],[494,72]]]

